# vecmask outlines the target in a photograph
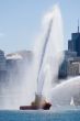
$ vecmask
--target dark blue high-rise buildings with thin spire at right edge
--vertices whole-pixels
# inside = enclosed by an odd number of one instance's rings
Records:
[[[65,51],[64,62],[59,67],[59,78],[80,75],[80,32],[78,22],[78,32],[71,34],[68,41],[68,51]]]

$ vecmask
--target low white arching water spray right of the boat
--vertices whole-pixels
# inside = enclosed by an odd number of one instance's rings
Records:
[[[70,106],[71,98],[73,97],[75,105],[80,103],[80,77],[73,77],[52,88],[50,101],[55,107]]]

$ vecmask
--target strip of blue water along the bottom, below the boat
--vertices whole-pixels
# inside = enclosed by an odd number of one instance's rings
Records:
[[[80,121],[80,110],[0,111],[0,121]]]

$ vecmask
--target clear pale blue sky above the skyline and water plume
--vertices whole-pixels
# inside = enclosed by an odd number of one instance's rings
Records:
[[[61,9],[67,47],[71,32],[77,32],[80,0],[0,0],[0,50],[31,50],[43,14],[55,3]]]

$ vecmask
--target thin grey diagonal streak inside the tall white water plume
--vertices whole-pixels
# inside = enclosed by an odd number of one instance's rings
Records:
[[[52,31],[52,24],[53,24],[53,19],[49,22],[48,31],[47,31],[45,43],[44,43],[44,47],[43,47],[43,51],[42,51],[41,63],[39,63],[38,75],[37,75],[37,87],[38,87],[38,77],[39,77],[39,73],[41,73],[41,69],[42,69],[46,46],[47,46],[47,43],[48,43],[48,40],[49,40],[49,35],[50,35],[50,31]]]

